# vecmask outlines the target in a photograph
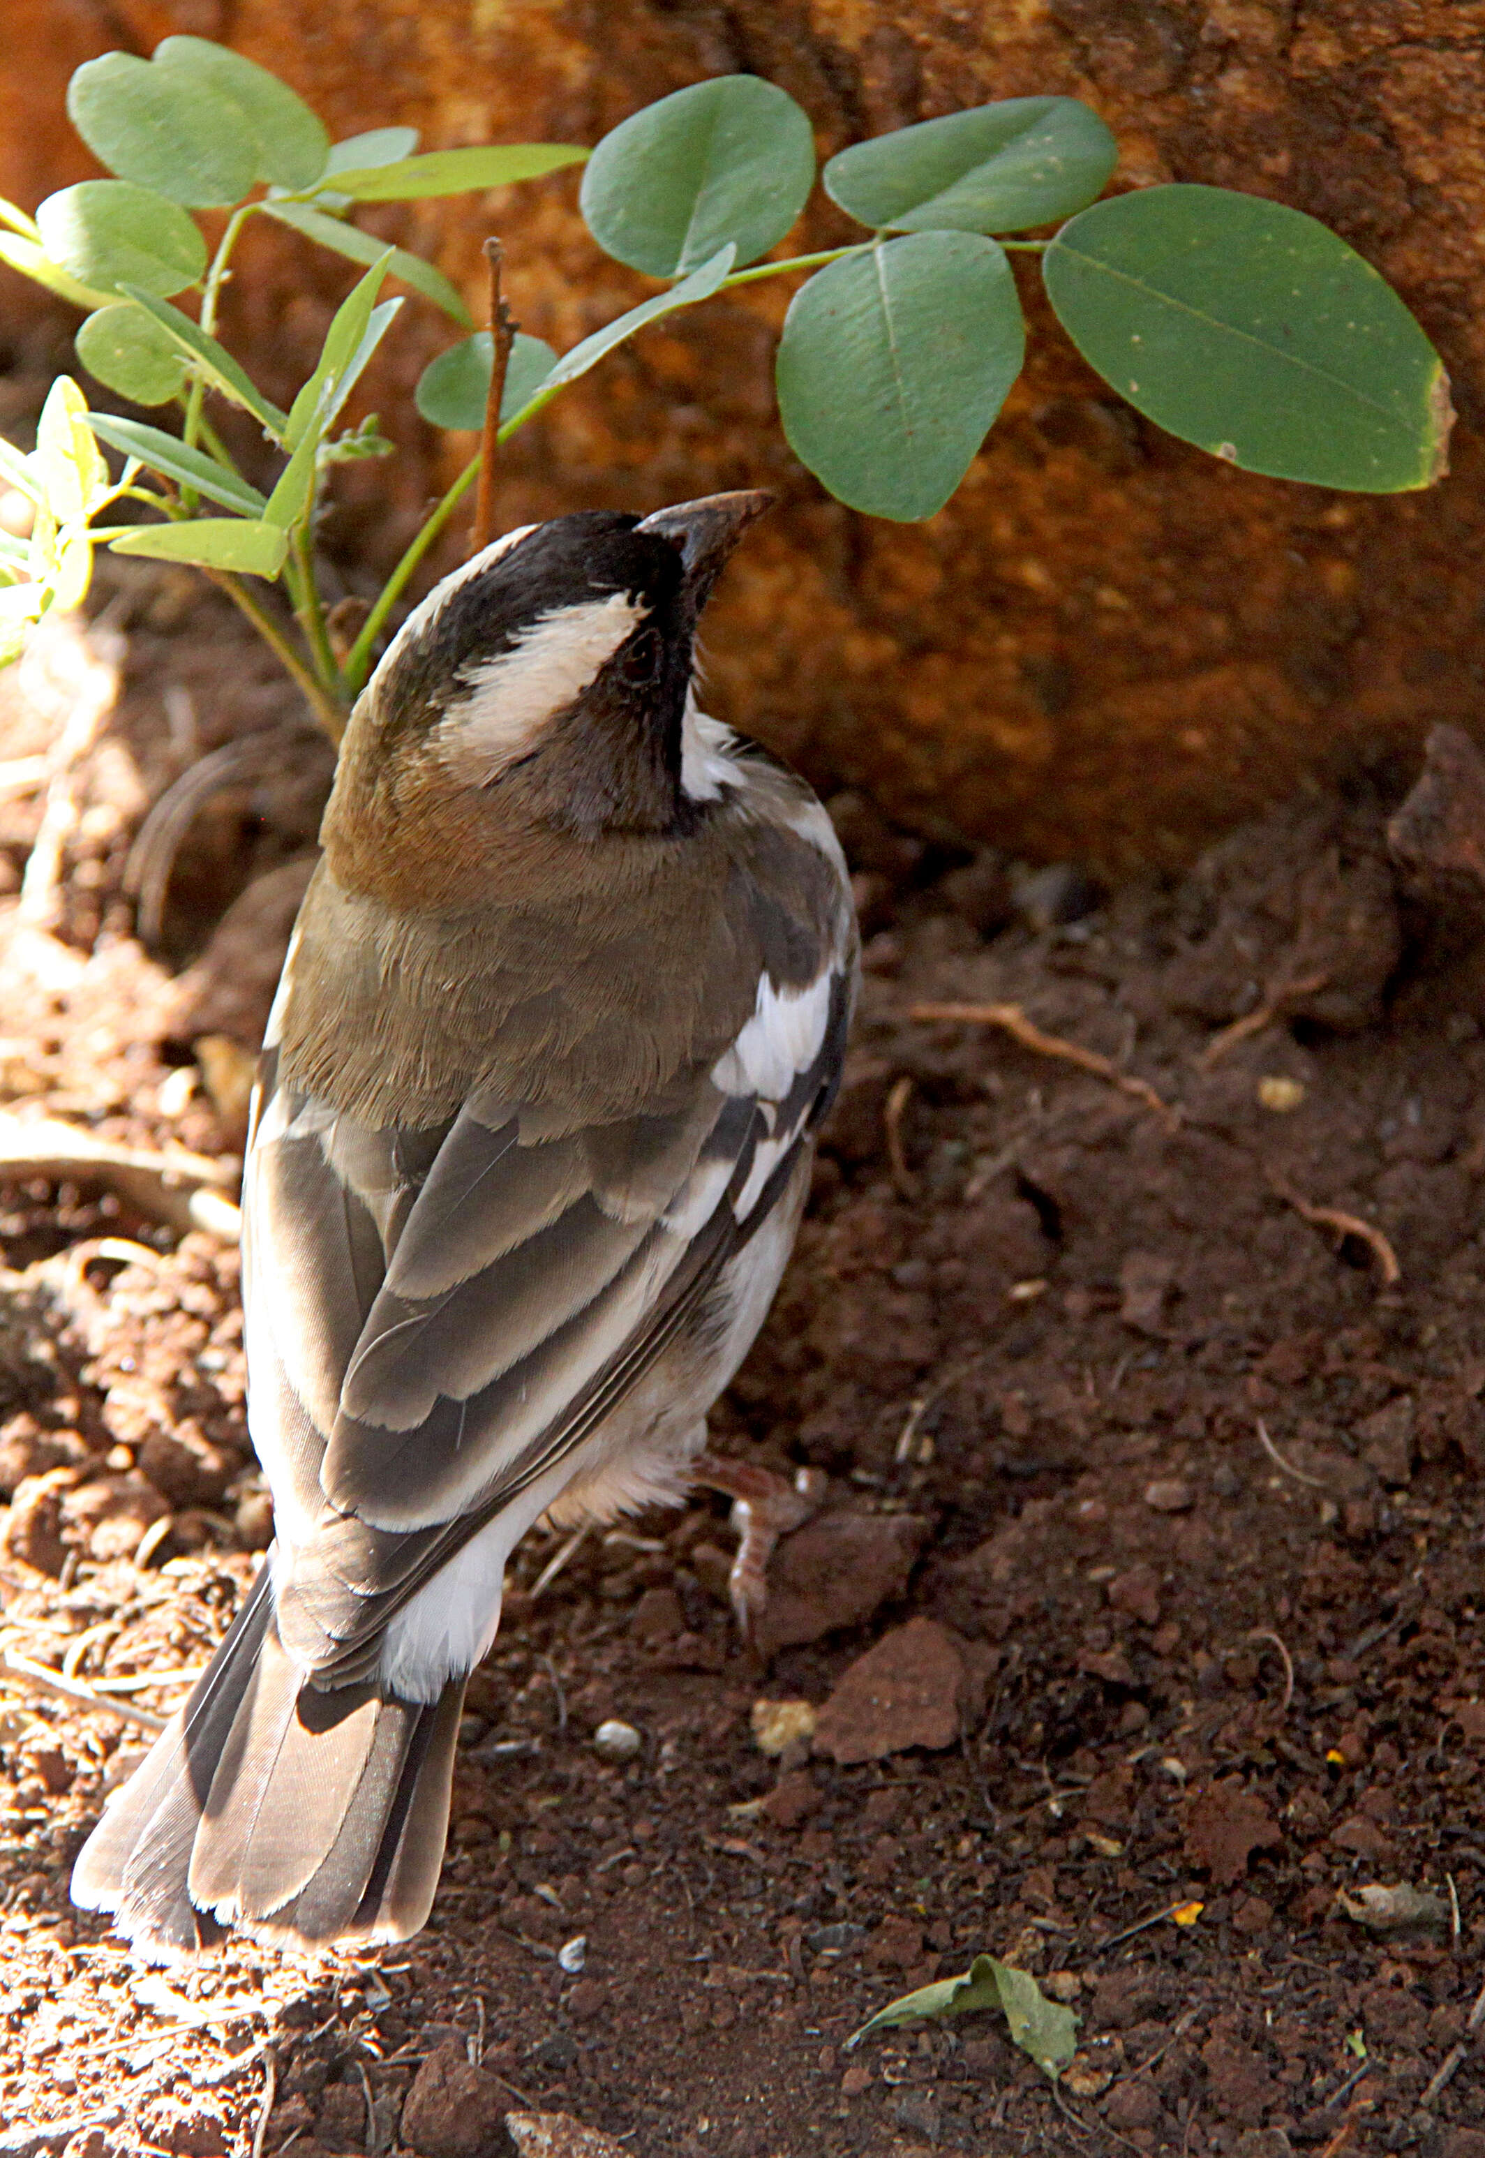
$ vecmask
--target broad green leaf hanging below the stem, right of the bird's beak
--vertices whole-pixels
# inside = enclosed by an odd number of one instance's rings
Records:
[[[1025,330],[1004,250],[911,233],[831,263],[779,339],[790,449],[876,518],[943,509],[1021,371]]]

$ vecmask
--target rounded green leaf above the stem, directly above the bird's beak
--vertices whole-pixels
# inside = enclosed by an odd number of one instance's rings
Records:
[[[717,76],[607,134],[583,173],[583,218],[604,252],[684,276],[727,240],[751,263],[814,186],[809,117],[760,76]]]

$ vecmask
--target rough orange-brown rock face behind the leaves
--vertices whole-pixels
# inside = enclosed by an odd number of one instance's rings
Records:
[[[712,701],[816,779],[861,781],[926,833],[1079,855],[1101,870],[1189,855],[1306,773],[1412,755],[1470,723],[1485,665],[1474,378],[1485,345],[1485,108],[1448,0],[11,0],[0,192],[28,205],[86,168],[69,69],[127,39],[224,37],[337,134],[414,123],[430,147],[596,140],[708,73],[755,69],[816,121],[820,151],[989,97],[1086,97],[1122,145],[1116,186],[1200,179],[1271,194],[1351,240],[1409,300],[1455,378],[1455,477],[1373,503],[1254,479],[1137,421],[1075,358],[1027,278],[1032,358],[954,503],[924,527],[853,516],[788,455],[773,412],[777,285],[656,328],[512,447],[503,520],[652,509],[764,483],[781,509],[710,617]],[[371,220],[369,220],[371,222]],[[559,347],[650,287],[607,263],[574,175],[479,205],[376,214],[479,291],[507,242],[524,326]],[[840,237],[816,205],[801,246]],[[341,289],[289,242],[246,252],[229,334],[291,388]],[[15,315],[15,283],[0,309]],[[26,302],[35,306],[35,296]],[[453,468],[408,412],[442,341],[425,309],[365,404],[408,442],[343,475],[328,542],[386,559]]]

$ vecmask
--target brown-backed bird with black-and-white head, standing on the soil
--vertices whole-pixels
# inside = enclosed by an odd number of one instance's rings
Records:
[[[747,1618],[818,1500],[706,1450],[859,984],[825,807],[697,701],[701,609],[768,503],[505,533],[348,719],[244,1157],[274,1543],[71,1877],[147,1962],[425,1925],[533,1524],[712,1483]]]

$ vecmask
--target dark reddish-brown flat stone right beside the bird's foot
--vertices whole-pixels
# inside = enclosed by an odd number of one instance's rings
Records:
[[[827,1513],[784,1536],[768,1565],[758,1653],[803,1647],[837,1627],[866,1625],[900,1597],[928,1541],[917,1513]]]

